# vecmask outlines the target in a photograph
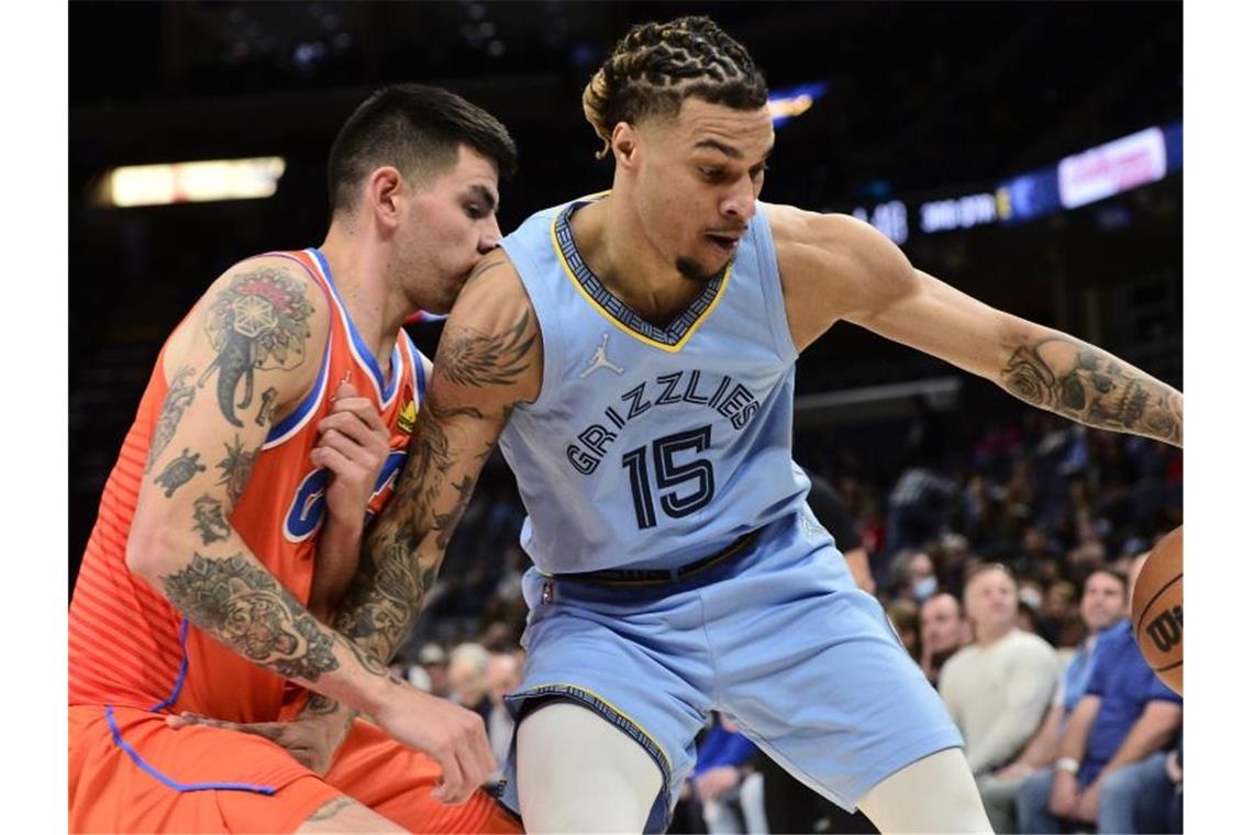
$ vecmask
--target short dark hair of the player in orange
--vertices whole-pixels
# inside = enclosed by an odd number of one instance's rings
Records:
[[[406,177],[431,177],[456,164],[462,144],[492,160],[502,178],[514,175],[517,148],[505,125],[482,108],[422,84],[376,90],[331,145],[331,213],[351,208],[362,178],[380,165],[395,165]]]

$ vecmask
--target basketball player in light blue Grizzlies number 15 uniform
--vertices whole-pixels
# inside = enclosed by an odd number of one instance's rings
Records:
[[[1180,393],[856,219],[758,202],[766,83],[708,19],[632,29],[583,106],[613,189],[480,264],[367,546],[429,582],[500,441],[535,562],[502,800],[531,831],[662,831],[718,710],[885,831],[991,831],[944,705],[806,506],[797,354],[847,320],[1175,444]]]

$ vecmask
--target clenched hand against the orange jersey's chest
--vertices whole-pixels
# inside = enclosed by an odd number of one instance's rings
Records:
[[[331,413],[317,428],[309,461],[331,474],[327,511],[337,520],[360,523],[391,452],[391,434],[370,398],[360,397],[350,383],[340,383]]]

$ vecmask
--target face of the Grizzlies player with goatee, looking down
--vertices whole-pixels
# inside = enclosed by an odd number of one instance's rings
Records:
[[[774,146],[767,108],[734,110],[687,99],[674,119],[640,131],[638,205],[650,243],[692,279],[712,279],[736,257]]]

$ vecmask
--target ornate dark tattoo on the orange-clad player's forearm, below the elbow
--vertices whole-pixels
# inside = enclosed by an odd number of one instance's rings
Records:
[[[317,681],[340,667],[331,632],[273,575],[237,553],[199,553],[162,577],[169,601],[197,627],[286,679]]]

